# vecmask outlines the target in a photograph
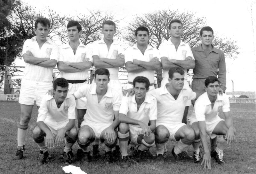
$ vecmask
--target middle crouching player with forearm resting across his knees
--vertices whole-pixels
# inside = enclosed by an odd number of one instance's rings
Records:
[[[136,156],[138,162],[145,162],[145,150],[155,144],[157,103],[156,98],[148,94],[149,80],[138,76],[133,80],[135,95],[124,96],[119,110],[118,139],[122,154],[121,167],[129,167],[128,143],[139,145]],[[148,122],[150,121],[150,126]]]

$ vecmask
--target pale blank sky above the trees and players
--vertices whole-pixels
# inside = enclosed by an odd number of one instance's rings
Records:
[[[238,56],[236,59],[226,59],[227,90],[255,91],[256,87],[256,1],[255,0],[183,0],[173,2],[170,0],[22,0],[36,9],[50,8],[61,14],[75,15],[88,10],[107,11],[122,19],[120,26],[127,26],[136,15],[156,10],[170,8],[178,11],[195,12],[196,17],[205,17],[208,26],[219,37],[228,37],[237,41]],[[50,5],[51,4],[51,5]],[[75,19],[76,20],[76,19]],[[18,64],[21,61],[18,61]],[[16,63],[16,65],[18,65]]]

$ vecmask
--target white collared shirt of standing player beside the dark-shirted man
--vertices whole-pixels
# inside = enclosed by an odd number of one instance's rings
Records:
[[[193,60],[195,60],[193,53],[189,47],[189,45],[185,42],[180,41],[180,45],[176,51],[175,46],[173,45],[171,40],[163,42],[159,46],[159,54],[160,58],[161,57],[167,57],[168,60],[171,59],[176,59],[176,60],[185,60],[186,57],[191,56]],[[163,80],[168,81],[169,75],[168,75],[169,70],[163,69]],[[185,72],[185,79],[187,79],[187,70],[184,69]]]

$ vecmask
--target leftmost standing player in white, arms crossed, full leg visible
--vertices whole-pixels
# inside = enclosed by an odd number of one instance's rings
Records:
[[[22,55],[26,62],[20,87],[20,123],[18,124],[18,148],[14,159],[22,159],[28,122],[36,101],[37,108],[48,90],[52,89],[53,67],[58,61],[58,46],[47,35],[49,19],[38,18],[35,22],[35,37],[24,42]]]

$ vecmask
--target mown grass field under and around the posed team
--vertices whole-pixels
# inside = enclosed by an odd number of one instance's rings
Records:
[[[205,170],[200,164],[193,161],[174,162],[171,149],[174,143],[167,144],[168,158],[164,163],[155,163],[154,160],[146,164],[132,163],[128,169],[119,167],[119,162],[105,164],[103,162],[104,151],[101,151],[101,158],[91,163],[74,162],[72,165],[79,166],[87,174],[165,174],[165,173],[209,173],[209,174],[236,174],[236,173],[256,173],[256,121],[255,104],[231,104],[231,115],[236,128],[236,141],[224,151],[225,164],[220,165],[212,160],[212,170]],[[191,113],[191,108],[189,114]],[[220,113],[222,116],[222,113]],[[17,148],[17,123],[20,119],[20,105],[18,102],[0,101],[0,174],[63,174],[61,167],[64,163],[59,160],[59,155],[63,148],[50,149],[54,159],[45,164],[38,165],[39,148],[32,139],[32,130],[36,125],[37,109],[34,107],[32,118],[28,128],[24,159],[13,160]],[[77,122],[76,122],[77,124]],[[64,145],[64,144],[63,144]],[[76,153],[77,144],[73,146]],[[189,154],[193,154],[192,146],[186,149]],[[150,149],[155,154],[156,147]]]

